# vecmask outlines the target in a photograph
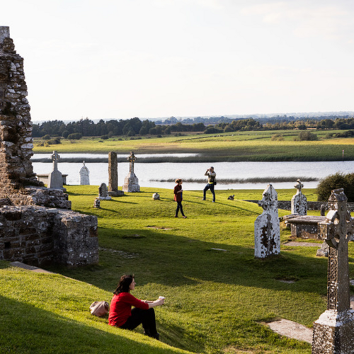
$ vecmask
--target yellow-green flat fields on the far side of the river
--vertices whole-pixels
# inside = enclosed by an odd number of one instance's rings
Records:
[[[62,139],[61,144],[45,146],[45,140],[35,138],[35,153],[108,153],[118,154],[163,154],[195,153],[201,156],[179,158],[181,162],[216,162],[216,161],[341,161],[354,160],[354,138],[330,138],[329,135],[344,130],[314,130],[316,141],[296,141],[299,130],[273,130],[232,132],[219,135],[183,133],[183,136],[164,135],[164,137],[85,137],[80,140]],[[274,135],[283,140],[273,140]],[[41,146],[43,145],[43,146]],[[145,159],[154,162],[154,159]],[[159,159],[158,161],[164,161]],[[173,158],[166,157],[166,162]]]

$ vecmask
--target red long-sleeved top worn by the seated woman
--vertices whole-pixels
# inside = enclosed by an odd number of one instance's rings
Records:
[[[108,324],[120,327],[132,316],[132,306],[139,309],[149,309],[149,304],[132,296],[129,292],[120,292],[114,295],[110,302]]]

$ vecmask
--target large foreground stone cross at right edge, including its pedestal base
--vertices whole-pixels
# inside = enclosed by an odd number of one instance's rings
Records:
[[[354,353],[354,311],[350,309],[348,242],[354,218],[347,209],[343,188],[332,190],[329,212],[319,224],[329,244],[327,310],[314,322],[312,354]]]

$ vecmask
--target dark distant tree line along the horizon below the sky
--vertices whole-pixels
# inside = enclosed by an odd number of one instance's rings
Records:
[[[200,118],[205,119],[205,118]],[[33,124],[33,137],[64,137],[65,139],[79,139],[80,137],[102,137],[108,139],[113,136],[135,135],[170,135],[176,132],[205,132],[206,134],[218,134],[221,132],[236,132],[239,130],[307,130],[312,129],[336,129],[354,130],[354,118],[311,118],[306,120],[280,117],[279,121],[261,122],[254,118],[230,119],[222,117],[210,118],[209,124],[198,122],[198,118],[179,122],[176,118],[169,118],[163,124],[151,120],[131,118],[128,120],[100,120],[93,122],[89,118],[77,122],[64,122],[62,120],[50,120],[39,124]],[[212,123],[211,123],[212,122]],[[215,122],[215,123],[214,123]]]

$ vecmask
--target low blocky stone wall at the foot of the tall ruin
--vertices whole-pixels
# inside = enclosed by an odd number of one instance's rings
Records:
[[[32,205],[0,207],[0,259],[35,266],[96,264],[97,217]]]

